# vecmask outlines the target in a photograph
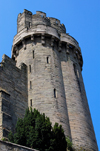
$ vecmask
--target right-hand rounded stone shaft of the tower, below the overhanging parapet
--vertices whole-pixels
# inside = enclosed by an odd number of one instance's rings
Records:
[[[60,55],[64,79],[66,104],[73,144],[86,150],[98,150],[91,116],[83,90],[81,68],[77,58],[71,53],[65,57],[64,51]]]

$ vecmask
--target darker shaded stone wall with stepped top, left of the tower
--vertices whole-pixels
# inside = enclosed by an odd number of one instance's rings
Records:
[[[27,97],[26,66],[21,64],[19,69],[4,55],[0,66],[0,138],[14,131],[17,119],[24,117]]]

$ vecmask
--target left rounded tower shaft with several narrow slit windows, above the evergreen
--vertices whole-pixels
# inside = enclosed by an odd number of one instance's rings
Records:
[[[18,47],[16,66],[23,62],[28,67],[28,105],[45,113],[53,125],[55,122],[61,124],[66,136],[71,138],[57,45],[53,50],[48,37],[43,46],[40,36],[35,37],[35,45],[30,38],[25,44],[25,49]]]

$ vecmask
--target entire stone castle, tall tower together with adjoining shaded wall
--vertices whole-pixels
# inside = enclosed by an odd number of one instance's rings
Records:
[[[64,24],[37,11],[18,15],[12,57],[0,63],[0,138],[28,107],[62,125],[74,147],[98,151],[82,79],[78,42]]]

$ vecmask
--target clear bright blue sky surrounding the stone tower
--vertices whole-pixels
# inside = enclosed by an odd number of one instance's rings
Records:
[[[0,61],[11,57],[17,16],[24,9],[43,11],[65,24],[81,47],[83,79],[100,149],[100,0],[0,0]]]

